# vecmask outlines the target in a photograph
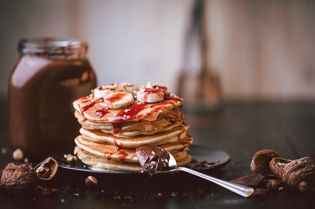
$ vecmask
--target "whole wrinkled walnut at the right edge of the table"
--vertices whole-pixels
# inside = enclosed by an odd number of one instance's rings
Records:
[[[309,157],[292,160],[283,168],[282,180],[299,191],[307,191],[315,186],[315,161]]]

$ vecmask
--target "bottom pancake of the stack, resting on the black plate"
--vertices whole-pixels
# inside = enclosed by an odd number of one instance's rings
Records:
[[[105,160],[104,158],[96,157],[94,155],[83,152],[81,149],[76,150],[77,157],[85,164],[91,166],[91,170],[98,171],[125,171],[125,172],[141,172],[143,168],[139,163],[132,162],[110,162],[110,160]],[[175,155],[176,156],[176,155]],[[178,158],[178,156],[176,156]],[[185,155],[185,157],[176,160],[178,166],[185,166],[191,161],[190,155]],[[147,171],[147,170],[144,170]]]

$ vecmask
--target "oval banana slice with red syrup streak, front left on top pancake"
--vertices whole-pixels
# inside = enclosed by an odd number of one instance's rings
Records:
[[[120,109],[133,104],[133,96],[126,91],[118,91],[104,96],[104,102],[110,109]]]

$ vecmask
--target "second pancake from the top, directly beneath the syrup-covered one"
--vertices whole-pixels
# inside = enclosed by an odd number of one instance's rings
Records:
[[[98,129],[107,134],[126,138],[170,131],[179,127],[184,119],[184,115],[177,108],[157,117],[155,121],[132,121],[118,124],[118,126],[111,123],[97,123],[85,120],[84,116],[77,111],[75,111],[74,115],[83,128]]]

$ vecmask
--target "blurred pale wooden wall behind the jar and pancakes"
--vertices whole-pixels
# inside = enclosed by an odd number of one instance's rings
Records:
[[[0,95],[22,37],[85,39],[99,84],[176,89],[193,1],[0,2]],[[315,99],[315,1],[206,1],[224,99]]]

